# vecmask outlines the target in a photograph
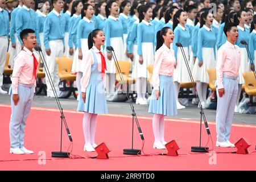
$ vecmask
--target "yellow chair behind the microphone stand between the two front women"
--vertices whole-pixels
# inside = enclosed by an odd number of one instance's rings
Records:
[[[121,69],[121,73],[122,73],[122,76],[123,76],[123,80],[126,82],[127,85],[129,84],[134,84],[134,82],[136,81],[135,78],[131,78],[129,77],[129,72],[130,72],[130,67],[131,67],[131,63],[129,61],[118,61],[118,64],[119,64],[119,67]],[[115,73],[115,79],[118,81],[118,82],[121,82],[121,75],[119,75],[118,73],[118,70],[117,70],[117,66],[115,65],[115,70],[116,70],[116,73]]]

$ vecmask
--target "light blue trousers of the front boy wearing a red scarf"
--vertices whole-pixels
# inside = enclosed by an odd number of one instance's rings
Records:
[[[18,85],[19,101],[17,105],[14,105],[12,88],[9,93],[11,94],[11,148],[22,148],[24,147],[24,129],[34,98],[34,85]]]

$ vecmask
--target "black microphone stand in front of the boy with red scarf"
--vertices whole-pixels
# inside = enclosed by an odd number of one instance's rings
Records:
[[[52,157],[53,158],[69,158],[70,153],[62,151],[62,127],[63,127],[63,122],[64,122],[65,128],[67,130],[68,138],[69,138],[70,142],[73,142],[73,139],[72,139],[71,134],[69,132],[67,121],[66,121],[65,115],[63,113],[63,108],[60,105],[59,97],[57,97],[56,89],[55,89],[55,86],[53,85],[52,77],[51,77],[51,74],[49,73],[49,69],[48,69],[48,66],[46,64],[46,60],[44,59],[44,55],[43,55],[42,49],[39,46],[36,46],[35,50],[39,52],[39,55],[40,55],[41,59],[43,60],[44,69],[46,70],[46,75],[49,78],[49,83],[51,84],[51,88],[53,90],[53,94],[54,94],[55,100],[57,102],[57,106],[59,107],[60,114],[61,114],[60,115],[60,118],[61,118],[60,151],[53,151],[52,152]]]

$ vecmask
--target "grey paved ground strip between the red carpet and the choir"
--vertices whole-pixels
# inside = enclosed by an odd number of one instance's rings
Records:
[[[60,99],[63,109],[76,110],[77,102],[73,96],[68,99]],[[0,94],[0,104],[10,104],[10,96]],[[39,107],[57,107],[54,98],[47,98],[46,96],[35,96],[34,106]],[[148,113],[148,105],[136,105],[133,103],[137,115],[152,115]],[[109,113],[131,114],[129,102],[108,102]],[[216,110],[204,109],[207,121],[215,121]],[[197,106],[189,105],[185,109],[178,110],[178,114],[174,118],[186,119],[200,119],[200,110]],[[256,125],[256,115],[254,114],[235,114],[233,122],[235,123],[249,123]]]

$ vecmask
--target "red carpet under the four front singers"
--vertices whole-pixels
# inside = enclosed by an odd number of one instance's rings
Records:
[[[0,170],[256,170],[256,126],[234,124],[230,140],[236,142],[245,138],[251,147],[248,155],[230,154],[236,148],[214,147],[214,153],[193,154],[191,146],[199,145],[199,121],[167,118],[165,124],[166,141],[175,139],[180,147],[179,156],[127,156],[123,148],[131,148],[131,118],[130,115],[108,114],[97,118],[96,142],[106,142],[112,150],[110,159],[56,159],[51,158],[51,151],[60,150],[60,114],[57,109],[33,107],[28,117],[25,146],[34,150],[33,155],[9,154],[9,121],[10,105],[0,105]],[[69,130],[73,138],[73,155],[97,156],[96,152],[84,152],[84,135],[82,133],[83,114],[74,110],[64,111]],[[167,153],[167,150],[152,148],[154,135],[152,133],[151,117],[138,116],[144,138],[144,153]],[[214,122],[208,122],[212,133],[213,144],[216,141]],[[135,125],[136,126],[136,125]],[[202,126],[202,146],[208,140],[205,127]],[[63,130],[63,151],[69,147],[67,133]],[[134,148],[141,149],[142,141],[137,127],[134,127]],[[212,148],[209,140],[208,147]],[[222,152],[222,153],[220,153]],[[42,154],[46,154],[46,160]],[[46,164],[42,164],[42,162]]]

